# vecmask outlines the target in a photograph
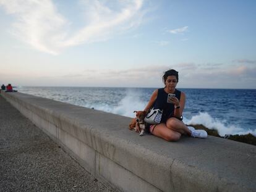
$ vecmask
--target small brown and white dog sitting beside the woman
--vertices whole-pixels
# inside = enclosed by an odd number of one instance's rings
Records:
[[[135,130],[140,133],[140,136],[144,135],[145,132],[145,122],[144,118],[147,115],[146,111],[134,111],[136,113],[136,117],[132,119],[130,122],[129,129]]]

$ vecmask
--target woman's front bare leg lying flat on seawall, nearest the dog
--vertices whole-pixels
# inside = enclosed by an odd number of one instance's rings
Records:
[[[171,130],[170,128],[166,127],[164,123],[153,125],[152,127],[150,127],[150,132],[151,134],[163,138],[167,141],[177,141],[179,140],[179,138],[181,138],[181,133]]]

